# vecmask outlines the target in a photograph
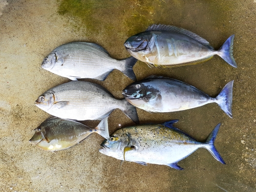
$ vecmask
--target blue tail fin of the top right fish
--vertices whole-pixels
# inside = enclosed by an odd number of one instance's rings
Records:
[[[234,61],[233,57],[233,40],[234,35],[228,37],[228,39],[224,42],[221,48],[218,50],[217,55],[223,58],[230,66],[237,68],[237,63]]]

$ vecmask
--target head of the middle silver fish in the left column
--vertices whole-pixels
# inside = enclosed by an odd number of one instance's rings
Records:
[[[38,106],[38,108],[40,108],[41,110],[48,111],[49,109],[51,109],[54,102],[54,94],[50,91],[47,91],[37,98],[37,100],[35,101],[35,105]]]

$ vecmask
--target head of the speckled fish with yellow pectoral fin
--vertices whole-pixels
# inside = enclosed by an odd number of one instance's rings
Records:
[[[129,145],[129,138],[126,135],[113,135],[109,139],[105,139],[101,143],[100,153],[114,157],[116,159],[123,159],[124,148]]]

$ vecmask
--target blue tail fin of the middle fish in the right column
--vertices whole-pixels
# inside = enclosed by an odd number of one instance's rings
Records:
[[[229,81],[221,90],[220,94],[216,97],[216,102],[230,118],[232,118],[231,107],[233,82],[233,80]]]

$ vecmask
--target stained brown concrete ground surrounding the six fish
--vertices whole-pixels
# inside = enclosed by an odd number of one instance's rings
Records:
[[[248,1],[0,1],[0,191],[255,191],[255,0]],[[194,66],[148,68],[138,61],[137,79],[164,75],[217,96],[234,80],[233,118],[215,103],[176,113],[147,113],[141,123],[179,119],[176,126],[204,141],[221,122],[216,147],[226,165],[199,149],[179,162],[184,170],[164,165],[142,166],[98,152],[103,138],[92,134],[68,150],[51,153],[29,143],[34,129],[49,115],[34,101],[67,78],[40,67],[44,57],[70,41],[96,42],[112,57],[128,57],[127,37],[151,24],[183,27],[219,49],[235,34],[238,68],[223,59]],[[83,79],[84,80],[84,79]],[[116,98],[132,82],[114,70],[101,84]],[[84,121],[94,126],[98,121]],[[133,122],[120,110],[109,118],[113,133]]]

